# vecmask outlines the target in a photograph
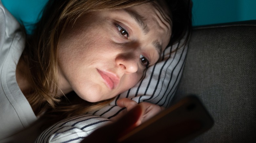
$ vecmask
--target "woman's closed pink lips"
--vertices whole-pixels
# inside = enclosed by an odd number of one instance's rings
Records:
[[[100,70],[98,70],[98,72],[101,75],[101,77],[103,78],[104,83],[108,88],[114,89],[115,87],[117,87],[120,80],[116,74],[111,73],[111,72],[100,71]]]

